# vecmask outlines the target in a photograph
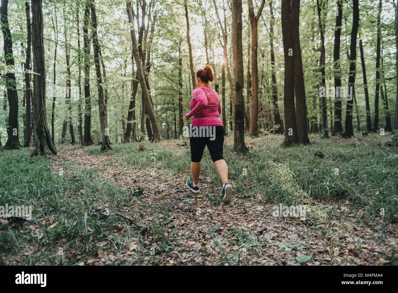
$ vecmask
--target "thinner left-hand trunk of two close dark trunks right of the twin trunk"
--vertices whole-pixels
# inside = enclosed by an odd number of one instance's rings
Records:
[[[332,135],[343,132],[341,124],[341,97],[338,96],[339,88],[341,88],[341,72],[340,72],[340,36],[341,36],[341,20],[343,18],[343,0],[337,1],[336,28],[334,30],[334,124]]]

